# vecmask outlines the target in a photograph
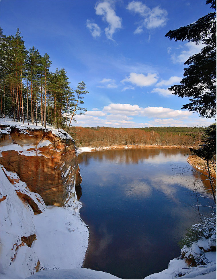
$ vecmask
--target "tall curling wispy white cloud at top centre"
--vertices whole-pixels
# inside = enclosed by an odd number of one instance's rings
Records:
[[[109,26],[105,28],[105,35],[108,39],[113,40],[112,36],[116,29],[122,28],[122,19],[116,15],[110,2],[103,1],[97,3],[95,5],[95,10],[96,15],[101,15],[103,20],[109,24]]]

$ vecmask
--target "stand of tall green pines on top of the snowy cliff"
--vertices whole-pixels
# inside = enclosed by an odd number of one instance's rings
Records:
[[[70,86],[64,68],[49,71],[51,60],[33,46],[25,48],[19,29],[15,35],[5,36],[1,29],[1,119],[32,124],[40,122],[65,128],[75,121],[75,114],[86,111],[83,94],[85,83],[76,90]]]

